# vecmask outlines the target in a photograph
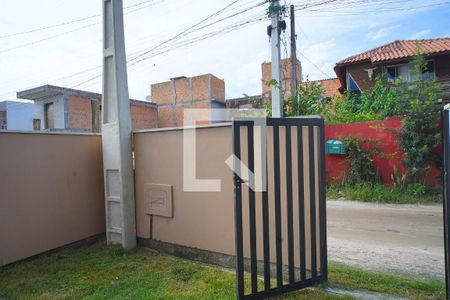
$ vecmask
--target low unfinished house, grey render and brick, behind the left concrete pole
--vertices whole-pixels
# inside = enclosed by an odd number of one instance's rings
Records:
[[[34,100],[35,119],[40,120],[40,130],[101,130],[101,94],[44,85],[18,92],[17,98]],[[133,130],[158,127],[156,104],[130,101]]]

